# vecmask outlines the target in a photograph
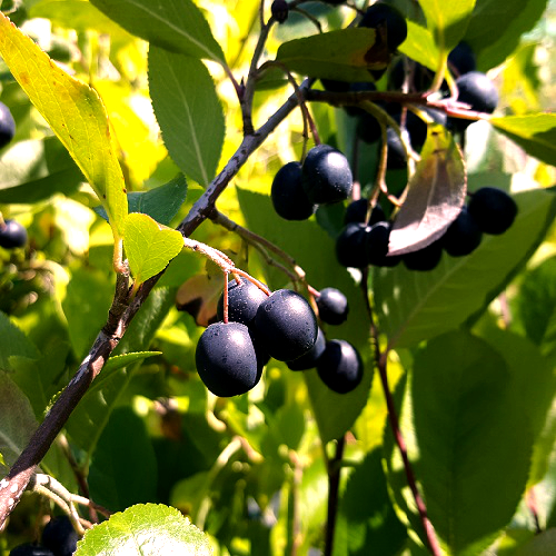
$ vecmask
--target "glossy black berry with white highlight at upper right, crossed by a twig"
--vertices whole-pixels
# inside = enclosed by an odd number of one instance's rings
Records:
[[[498,91],[485,73],[469,71],[456,79],[457,100],[470,106],[477,112],[493,113],[498,106]],[[464,131],[473,120],[449,118],[449,126],[455,131]]]

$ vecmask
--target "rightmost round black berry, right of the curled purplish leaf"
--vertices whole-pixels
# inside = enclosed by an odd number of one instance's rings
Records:
[[[471,195],[468,211],[485,234],[504,234],[517,216],[516,201],[502,189],[483,187]]]

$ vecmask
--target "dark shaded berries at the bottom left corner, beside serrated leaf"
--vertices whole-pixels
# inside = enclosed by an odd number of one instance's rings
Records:
[[[12,548],[10,556],[71,556],[78,540],[68,516],[54,517],[44,526],[40,544],[19,545]]]

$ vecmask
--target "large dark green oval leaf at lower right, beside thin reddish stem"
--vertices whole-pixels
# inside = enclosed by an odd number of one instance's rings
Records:
[[[408,386],[403,434],[428,516],[448,554],[480,554],[512,519],[527,481],[533,434],[520,385],[497,351],[458,331],[416,354]],[[413,498],[390,431],[387,454],[407,513]],[[419,532],[414,509],[408,516]]]

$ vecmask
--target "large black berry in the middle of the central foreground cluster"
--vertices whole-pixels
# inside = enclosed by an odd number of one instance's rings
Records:
[[[290,289],[278,289],[259,305],[257,338],[279,361],[305,355],[317,339],[317,317],[307,300]]]

